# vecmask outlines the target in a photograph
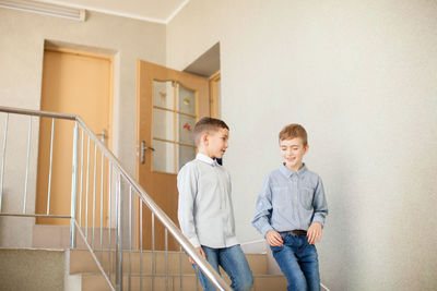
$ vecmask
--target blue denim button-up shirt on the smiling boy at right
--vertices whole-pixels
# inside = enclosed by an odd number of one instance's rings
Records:
[[[282,166],[262,183],[252,226],[265,237],[269,230],[308,230],[316,221],[323,226],[327,215],[320,177],[305,165],[296,172]]]

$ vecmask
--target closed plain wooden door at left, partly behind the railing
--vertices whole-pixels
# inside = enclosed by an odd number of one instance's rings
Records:
[[[79,114],[95,133],[102,133],[104,130],[108,133],[108,138],[106,138],[107,145],[110,145],[111,141],[111,57],[67,49],[45,49],[42,110]],[[52,121],[47,118],[40,120],[36,195],[37,214],[47,214],[48,208],[50,215],[70,214],[73,126],[74,122],[55,120],[50,179],[49,165]],[[87,165],[86,141],[83,145],[83,153],[85,153],[84,165]],[[96,165],[101,165],[99,162],[101,157],[97,154]],[[95,184],[97,186],[101,185],[101,167],[96,167]],[[93,190],[93,144],[90,145],[88,172],[88,190]],[[84,169],[84,174],[86,174],[86,168]],[[83,193],[85,193],[85,183],[82,184]],[[99,201],[101,192],[103,191],[97,190],[97,201]],[[49,196],[50,199],[48,199]],[[88,196],[88,203],[92,205],[92,195]],[[85,205],[85,197],[83,197],[83,205]],[[103,210],[105,214],[107,213],[106,209]],[[96,209],[96,211],[97,220],[95,222],[99,225],[101,209]],[[88,216],[90,223],[91,217],[92,214]],[[107,220],[106,215],[104,219]],[[69,225],[70,221],[68,219],[39,218],[37,219],[37,223]],[[85,221],[82,221],[82,223],[85,225]]]

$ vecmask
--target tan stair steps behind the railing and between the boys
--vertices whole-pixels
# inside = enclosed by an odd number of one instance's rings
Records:
[[[155,290],[203,290],[196,274],[188,263],[185,254],[180,252],[169,252],[168,272],[166,271],[166,258],[163,252],[155,252],[156,255],[156,269],[155,275],[152,277],[152,256],[150,252],[131,253],[131,276],[123,275],[123,289],[140,290],[140,280],[142,280],[142,290],[152,290],[152,280],[154,280]],[[70,276],[78,276],[81,278],[82,291],[107,291],[109,290],[103,276],[99,275],[98,268],[93,264],[93,258],[86,251],[71,250],[70,256]],[[104,254],[104,257],[108,254]],[[140,257],[142,256],[142,278],[140,272]],[[129,253],[125,253],[123,257],[129,257]],[[279,275],[268,274],[267,255],[264,254],[247,254],[246,255],[250,268],[253,274],[255,286],[252,290],[256,291],[271,291],[271,290],[286,290],[286,279]],[[105,265],[105,264],[104,264]],[[181,267],[181,272],[179,271]],[[123,262],[123,269],[129,269],[129,262]],[[224,279],[231,283],[231,280],[221,270]]]

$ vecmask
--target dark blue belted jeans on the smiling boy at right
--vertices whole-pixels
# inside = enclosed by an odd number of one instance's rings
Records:
[[[282,272],[288,281],[288,291],[320,291],[319,259],[314,244],[305,235],[281,233],[284,244],[270,246]]]

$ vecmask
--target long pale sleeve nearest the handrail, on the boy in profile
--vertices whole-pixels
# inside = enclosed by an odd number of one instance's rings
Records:
[[[194,170],[193,167],[184,167],[177,177],[177,187],[179,226],[184,235],[197,247],[200,243],[194,223],[194,199],[198,192]]]

